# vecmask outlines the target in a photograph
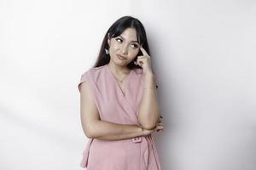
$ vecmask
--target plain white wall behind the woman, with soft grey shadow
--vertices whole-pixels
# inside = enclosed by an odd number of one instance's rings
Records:
[[[81,169],[81,74],[137,17],[160,81],[164,170],[256,168],[253,0],[0,1],[0,169]]]

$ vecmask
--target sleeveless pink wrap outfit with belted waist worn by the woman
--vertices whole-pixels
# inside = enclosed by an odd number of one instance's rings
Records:
[[[113,77],[109,65],[90,68],[81,76],[94,94],[101,120],[137,124],[143,99],[143,70],[133,69],[126,77],[125,94]],[[154,81],[157,83],[156,77]],[[152,135],[122,140],[89,139],[81,167],[88,170],[160,170],[160,160]]]

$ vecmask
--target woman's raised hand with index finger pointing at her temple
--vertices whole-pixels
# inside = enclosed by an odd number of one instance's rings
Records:
[[[137,60],[134,61],[134,64],[143,67],[144,74],[152,74],[150,56],[143,46],[141,46],[140,50],[143,52],[143,55],[137,56]]]

